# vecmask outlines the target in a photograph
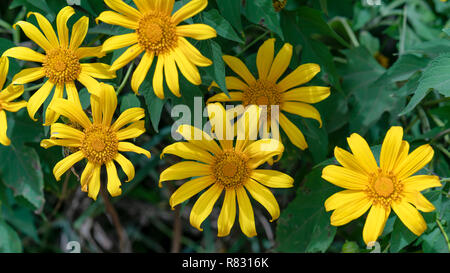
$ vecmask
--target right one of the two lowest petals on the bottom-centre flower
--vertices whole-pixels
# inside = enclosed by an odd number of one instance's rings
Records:
[[[236,188],[236,196],[239,207],[239,225],[242,233],[247,237],[256,236],[255,216],[253,207],[243,187]]]

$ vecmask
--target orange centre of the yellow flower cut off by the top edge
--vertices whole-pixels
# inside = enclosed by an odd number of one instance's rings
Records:
[[[140,19],[136,33],[138,43],[155,55],[166,53],[178,45],[176,25],[166,14],[147,13]]]

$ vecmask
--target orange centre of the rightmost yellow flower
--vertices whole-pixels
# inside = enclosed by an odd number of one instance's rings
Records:
[[[372,198],[374,204],[381,204],[389,207],[393,201],[401,199],[403,184],[392,173],[384,173],[378,169],[369,178],[367,193]]]

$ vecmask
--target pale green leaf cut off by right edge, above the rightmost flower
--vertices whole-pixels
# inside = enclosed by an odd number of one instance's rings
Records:
[[[412,111],[425,98],[431,89],[444,95],[450,96],[450,54],[443,54],[435,58],[425,69],[420,78],[414,96],[400,115],[405,115]]]

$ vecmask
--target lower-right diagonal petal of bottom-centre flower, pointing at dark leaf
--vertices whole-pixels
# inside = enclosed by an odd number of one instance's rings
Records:
[[[273,196],[272,192],[268,188],[252,179],[245,182],[244,186],[250,195],[267,209],[272,217],[270,222],[273,222],[280,217],[280,206],[278,205],[275,196]]]

